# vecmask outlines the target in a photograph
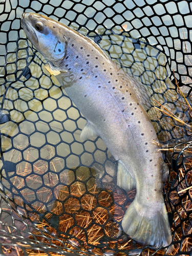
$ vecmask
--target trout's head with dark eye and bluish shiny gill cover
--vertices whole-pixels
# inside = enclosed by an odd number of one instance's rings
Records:
[[[21,23],[33,46],[46,60],[56,63],[65,58],[68,40],[58,22],[45,15],[24,12]]]

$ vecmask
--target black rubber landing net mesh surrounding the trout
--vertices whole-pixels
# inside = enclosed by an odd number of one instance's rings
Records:
[[[170,167],[172,255],[192,255],[191,9],[191,1],[0,0],[0,255],[168,253],[116,237],[135,190],[116,185],[117,162],[100,138],[80,140],[86,120],[26,39],[23,12],[92,37],[156,100],[147,111]]]

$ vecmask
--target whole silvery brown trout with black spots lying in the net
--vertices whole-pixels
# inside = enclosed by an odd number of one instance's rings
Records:
[[[137,194],[122,219],[132,239],[168,246],[172,234],[162,196],[167,166],[152,143],[157,136],[135,82],[91,39],[44,15],[22,14],[22,26],[87,119],[81,139],[100,136],[118,160],[117,184]]]

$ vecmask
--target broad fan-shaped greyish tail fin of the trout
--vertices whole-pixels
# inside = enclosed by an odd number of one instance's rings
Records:
[[[139,212],[136,210],[138,206]],[[135,198],[122,219],[123,231],[139,243],[154,247],[168,246],[172,242],[172,233],[167,211],[164,203],[159,203],[157,207],[157,214],[150,218],[150,206],[142,207]]]

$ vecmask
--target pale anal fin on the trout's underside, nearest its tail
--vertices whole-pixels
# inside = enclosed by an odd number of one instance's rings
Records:
[[[136,187],[135,178],[132,177],[124,163],[119,160],[117,167],[117,185],[126,191],[130,191]]]

